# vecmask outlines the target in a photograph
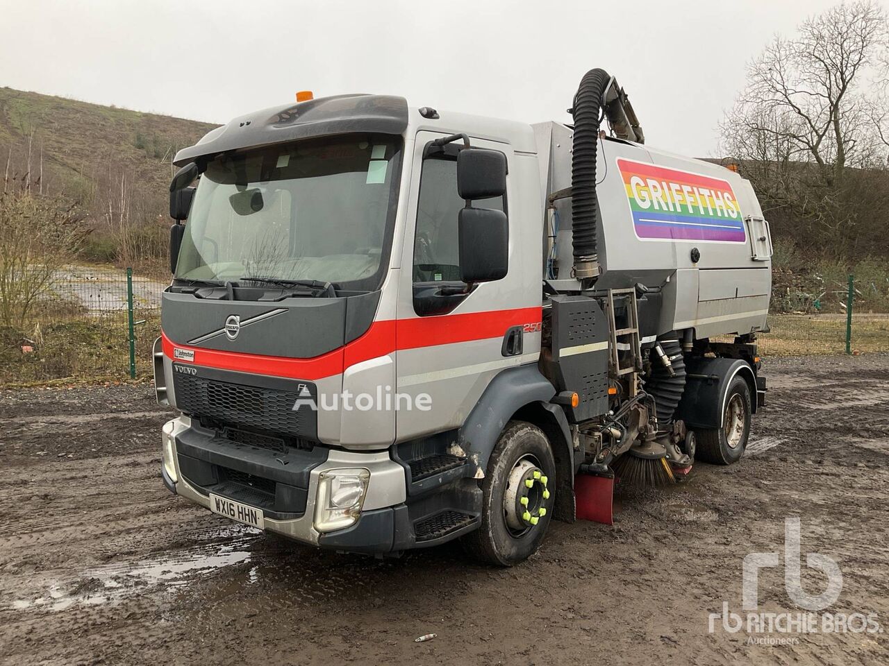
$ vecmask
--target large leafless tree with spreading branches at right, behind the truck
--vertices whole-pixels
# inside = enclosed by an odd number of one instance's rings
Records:
[[[749,64],[747,87],[722,123],[723,149],[773,218],[804,232],[804,247],[851,250],[860,240],[861,206],[849,198],[861,194],[862,170],[886,168],[887,49],[875,0],[838,4],[796,36],[775,37]]]

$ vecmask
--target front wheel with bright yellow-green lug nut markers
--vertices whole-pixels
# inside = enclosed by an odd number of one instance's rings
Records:
[[[482,524],[463,537],[478,559],[512,567],[531,557],[546,534],[556,463],[540,428],[511,421],[488,460],[482,484]]]

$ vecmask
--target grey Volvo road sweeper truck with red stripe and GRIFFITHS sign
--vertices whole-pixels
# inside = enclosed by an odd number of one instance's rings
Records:
[[[461,537],[511,565],[575,518],[575,478],[737,461],[765,397],[757,197],[645,146],[602,70],[571,111],[342,95],[180,151],[155,346],[181,412],[167,488],[322,548]]]

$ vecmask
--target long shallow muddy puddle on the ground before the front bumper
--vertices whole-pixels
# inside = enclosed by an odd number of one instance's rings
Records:
[[[156,559],[114,563],[86,569],[73,583],[54,581],[45,594],[35,599],[16,599],[14,610],[47,609],[63,611],[73,606],[96,606],[132,596],[148,587],[179,588],[193,575],[209,574],[232,565],[249,562],[247,549],[258,530],[231,525],[206,535],[210,540],[228,539],[226,543],[194,546],[184,551],[161,553]],[[250,582],[258,579],[257,568],[250,571]]]

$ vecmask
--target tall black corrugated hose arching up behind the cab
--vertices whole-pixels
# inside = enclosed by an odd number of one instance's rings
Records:
[[[574,96],[574,140],[571,162],[572,234],[574,277],[595,279],[599,275],[596,239],[596,153],[602,102],[611,76],[604,69],[590,69]]]

